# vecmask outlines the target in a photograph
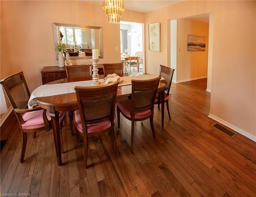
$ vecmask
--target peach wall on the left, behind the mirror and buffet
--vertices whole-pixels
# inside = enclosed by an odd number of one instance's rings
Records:
[[[122,15],[122,20],[144,23],[144,13],[125,10]],[[23,71],[30,91],[41,85],[40,70],[46,65],[58,65],[53,23],[102,27],[104,58],[99,63],[120,62],[119,24],[108,23],[101,5],[82,1],[1,1],[1,78]],[[73,64],[90,62],[77,60]]]

